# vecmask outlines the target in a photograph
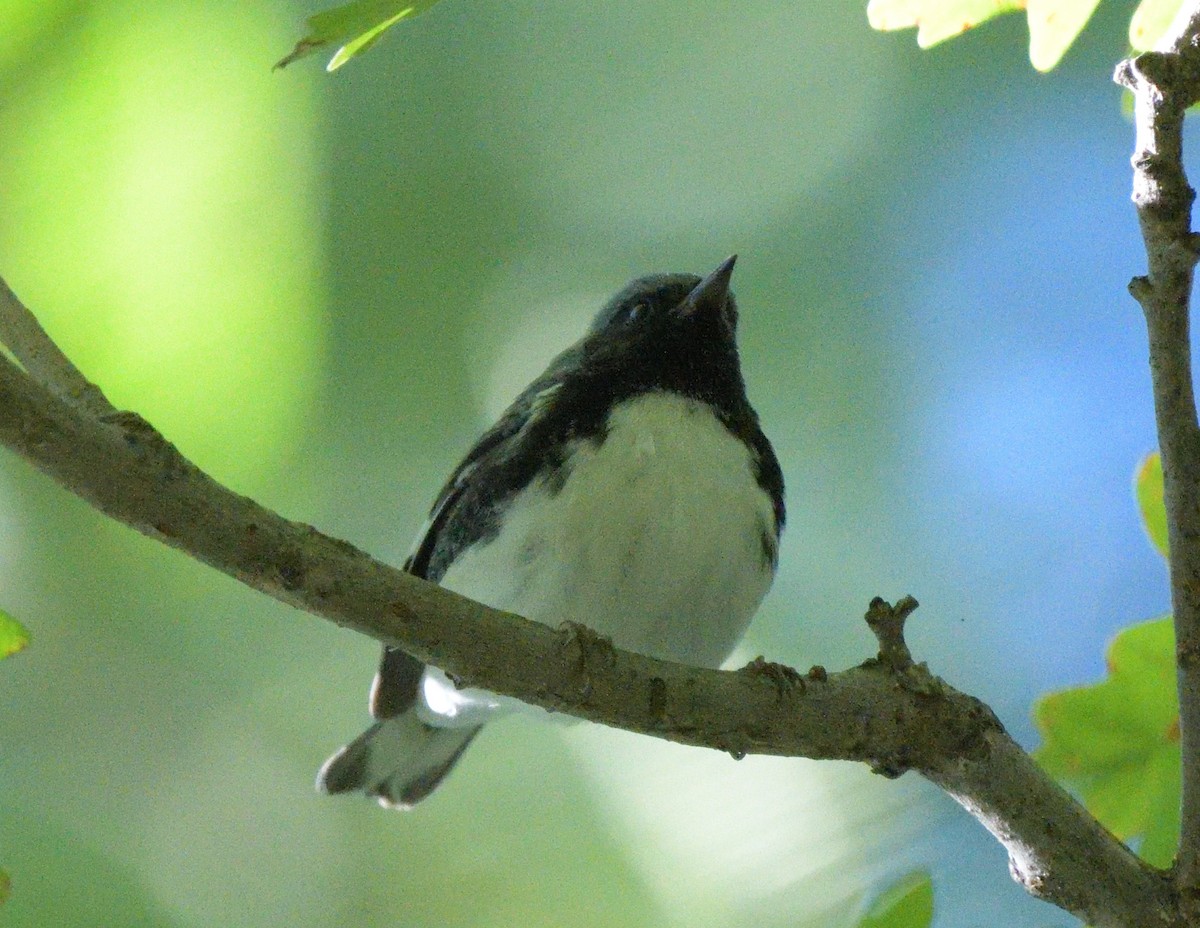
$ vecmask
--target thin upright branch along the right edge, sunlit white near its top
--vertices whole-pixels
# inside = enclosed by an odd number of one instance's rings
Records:
[[[1181,7],[1154,52],[1117,66],[1134,95],[1133,202],[1148,274],[1129,291],[1146,315],[1154,415],[1163,457],[1183,798],[1178,887],[1200,914],[1200,425],[1192,383],[1189,303],[1196,264],[1195,192],[1183,172],[1183,116],[1200,101],[1200,0]]]

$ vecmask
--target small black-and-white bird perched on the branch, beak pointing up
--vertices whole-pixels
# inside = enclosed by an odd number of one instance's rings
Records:
[[[779,563],[784,477],[746,399],[730,289],[634,280],[474,444],[404,570],[617,647],[716,667]],[[317,777],[410,809],[487,722],[530,707],[384,647],[373,724]]]

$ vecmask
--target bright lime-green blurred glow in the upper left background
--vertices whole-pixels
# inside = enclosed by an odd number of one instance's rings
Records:
[[[218,479],[269,485],[325,334],[313,100],[263,64],[290,18],[236,0],[0,6],[46,30],[26,29],[6,72],[19,92],[0,102],[10,283],[114,403],[136,400]],[[217,66],[190,65],[212,49]],[[66,274],[48,255],[86,259]]]

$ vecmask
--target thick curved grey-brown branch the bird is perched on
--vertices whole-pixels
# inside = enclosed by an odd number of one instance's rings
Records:
[[[996,836],[1034,896],[1098,928],[1176,922],[1163,874],[1046,777],[986,706],[912,663],[902,624],[913,600],[872,603],[881,654],[840,673],[802,676],[761,659],[701,670],[620,651],[578,625],[488,609],[382,564],[227,490],[139,415],[94,415],[2,355],[0,443],[113,519],[472,685],[734,756],[919,771]]]

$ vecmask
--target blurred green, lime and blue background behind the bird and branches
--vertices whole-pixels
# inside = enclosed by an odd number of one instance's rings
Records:
[[[916,653],[1026,744],[1164,611],[1129,5],[1062,66],[1019,17],[920,52],[862,4],[446,0],[332,76],[320,5],[0,2],[0,273],[80,366],[288,516],[398,562],[472,438],[599,301],[730,252],[782,459],[738,660]],[[1112,6],[1114,8],[1106,8]],[[19,928],[1061,926],[913,776],[578,725],[490,729],[409,815],[317,796],[376,647],[0,455],[0,866]]]

